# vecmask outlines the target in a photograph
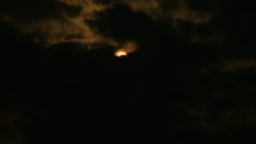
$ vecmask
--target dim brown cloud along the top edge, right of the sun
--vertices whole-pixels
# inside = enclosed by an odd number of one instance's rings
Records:
[[[216,43],[216,41],[220,41],[220,32],[205,37],[204,35],[200,35],[200,32],[196,29],[197,25],[201,25],[212,20],[214,16],[213,10],[209,10],[207,12],[202,13],[202,11],[191,9],[187,1],[185,0],[177,0],[172,2],[173,7],[164,8],[166,2],[161,0],[125,1],[125,3],[129,5],[129,7],[133,11],[142,11],[148,16],[150,16],[154,21],[164,20],[170,23],[170,27],[172,27],[174,31],[177,31],[177,33],[182,34],[182,37],[187,37],[191,43],[201,43],[203,41],[205,41],[206,43]],[[191,29],[185,30],[183,29],[181,22],[191,22],[195,25],[192,26]]]

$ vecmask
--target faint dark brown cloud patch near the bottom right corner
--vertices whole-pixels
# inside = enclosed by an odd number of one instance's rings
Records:
[[[255,110],[253,106],[237,110],[223,110],[215,118],[211,118],[211,111],[207,111],[203,106],[187,104],[183,106],[185,115],[194,119],[186,122],[183,129],[196,128],[207,133],[217,133],[255,125],[256,115],[253,112]]]

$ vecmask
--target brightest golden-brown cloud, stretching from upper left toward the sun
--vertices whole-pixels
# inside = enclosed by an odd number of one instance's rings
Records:
[[[66,43],[81,43],[90,48],[95,44],[106,44],[117,47],[119,44],[114,39],[103,37],[91,29],[85,20],[94,20],[95,13],[106,9],[106,5],[96,4],[93,1],[67,1],[59,0],[60,2],[82,6],[82,12],[76,17],[68,17],[62,13],[60,19],[42,19],[29,22],[22,22],[12,15],[5,15],[3,20],[16,26],[24,34],[39,34],[39,37],[34,38],[37,43],[43,43],[46,47]]]

